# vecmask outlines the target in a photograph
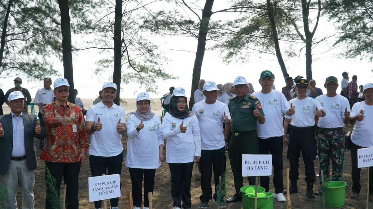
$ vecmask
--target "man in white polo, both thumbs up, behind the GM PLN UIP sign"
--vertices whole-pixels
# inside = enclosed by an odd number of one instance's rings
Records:
[[[126,113],[113,103],[117,95],[115,83],[106,82],[102,87],[102,101],[87,111],[86,131],[91,135],[90,166],[92,176],[119,174],[122,171],[122,134],[126,132]],[[111,209],[117,209],[119,198],[110,199]],[[102,201],[95,201],[96,209]]]

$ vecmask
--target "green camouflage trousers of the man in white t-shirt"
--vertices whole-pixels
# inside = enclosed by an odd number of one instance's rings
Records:
[[[343,128],[318,128],[317,131],[320,177],[321,170],[324,171],[324,181],[342,181],[343,159],[345,155]],[[332,179],[329,179],[329,159],[332,158]]]

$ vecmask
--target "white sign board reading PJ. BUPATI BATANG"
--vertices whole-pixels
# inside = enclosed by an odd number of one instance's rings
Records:
[[[272,155],[242,155],[242,176],[271,176]]]

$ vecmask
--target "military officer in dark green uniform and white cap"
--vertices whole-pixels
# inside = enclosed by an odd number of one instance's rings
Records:
[[[242,154],[259,154],[259,141],[256,131],[257,122],[264,123],[264,113],[260,101],[253,96],[247,95],[246,79],[238,76],[233,83],[236,97],[230,99],[228,108],[232,123],[225,126],[225,140],[232,132],[229,142],[229,161],[234,177],[236,193],[227,203],[242,201],[239,195],[242,181]],[[248,177],[249,184],[255,184],[255,177]]]

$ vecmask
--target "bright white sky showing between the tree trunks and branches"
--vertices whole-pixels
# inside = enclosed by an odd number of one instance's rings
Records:
[[[203,1],[200,6],[203,7]],[[162,8],[164,4],[157,5],[158,8]],[[226,3],[215,1],[213,11],[225,9]],[[192,16],[193,17],[193,16]],[[226,19],[231,18],[232,14],[217,13],[212,16],[212,19]],[[321,38],[328,34],[334,34],[336,30],[332,23],[328,22],[325,17],[321,17],[319,27],[316,30],[315,38]],[[78,43],[82,40],[81,37],[73,36],[73,42]],[[186,94],[190,95],[191,81],[192,81],[192,71],[195,59],[195,52],[197,49],[197,40],[190,37],[156,37],[148,36],[154,44],[162,44],[159,50],[164,52],[164,55],[169,59],[168,65],[164,65],[167,73],[172,73],[179,76],[179,80],[170,81],[160,81],[158,85],[158,94],[150,94],[153,98],[160,98],[162,94],[166,93],[170,86],[181,86],[186,90]],[[208,46],[212,46],[214,43],[208,43]],[[284,43],[280,43],[280,47],[284,47]],[[329,49],[332,44],[332,39],[325,42],[325,44],[317,45],[314,50],[313,58],[319,58],[312,64],[313,79],[316,80],[316,87],[321,88],[324,93],[326,93],[323,83],[325,78],[334,75],[338,78],[338,82],[342,79],[342,72],[347,71],[350,73],[350,81],[352,75],[357,75],[358,85],[364,85],[365,83],[372,82],[373,73],[370,71],[372,69],[372,64],[365,60],[346,60],[339,59],[336,55],[341,52],[342,48],[337,48],[327,53],[323,53]],[[304,44],[299,44],[295,46],[295,51],[298,52]],[[175,50],[184,51],[175,51]],[[192,52],[186,52],[192,51]],[[285,51],[285,49],[282,49]],[[319,54],[319,55],[316,55]],[[95,61],[105,58],[103,55],[98,54],[97,51],[81,51],[73,55],[73,69],[74,69],[74,85],[75,89],[78,89],[78,97],[84,99],[91,99],[98,96],[98,91],[101,89],[102,84],[108,81],[112,75],[113,69],[107,69],[107,73],[102,76],[94,74]],[[305,77],[305,57],[304,50],[300,53],[299,57],[292,58],[285,62],[288,73],[291,77],[297,75],[303,75]],[[57,62],[55,68],[59,70],[60,74],[63,74],[62,62]],[[123,66],[122,69],[126,69]],[[285,86],[285,81],[282,77],[282,72],[280,70],[279,64],[276,60],[275,55],[266,55],[259,58],[257,55],[251,55],[245,63],[233,62],[229,65],[223,63],[221,55],[218,51],[206,51],[201,78],[205,80],[215,81],[216,83],[225,84],[227,82],[233,83],[233,80],[238,76],[244,76],[247,82],[251,82],[254,85],[256,91],[260,90],[260,85],[258,83],[258,78],[263,70],[270,70],[276,75],[275,85],[276,90],[281,91],[281,88]],[[1,75],[0,77],[4,77]],[[22,75],[20,75],[22,77]],[[0,78],[0,88],[6,92],[11,87],[14,87],[15,77],[10,78]],[[23,78],[23,77],[22,77]],[[52,80],[57,77],[52,77]],[[29,82],[26,78],[23,78],[22,87],[27,88],[31,96],[34,98],[35,93],[38,89],[43,87],[43,81]],[[144,91],[144,86],[137,83],[132,83],[129,85],[123,85],[121,89],[120,96],[122,98],[135,98],[138,92]],[[338,91],[339,92],[339,91]]]

